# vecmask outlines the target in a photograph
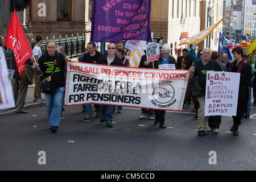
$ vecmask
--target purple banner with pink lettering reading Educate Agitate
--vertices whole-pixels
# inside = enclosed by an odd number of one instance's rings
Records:
[[[152,42],[150,31],[151,0],[93,1],[93,42],[146,40]]]

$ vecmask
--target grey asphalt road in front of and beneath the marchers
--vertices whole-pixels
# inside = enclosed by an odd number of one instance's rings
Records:
[[[0,115],[0,170],[256,169],[256,118],[242,120],[238,137],[229,131],[232,117],[222,117],[219,134],[198,137],[192,105],[185,105],[183,113],[168,111],[166,129],[139,119],[140,109],[115,111],[113,128],[108,128],[96,112],[85,122],[82,106],[64,106],[59,130],[51,133],[46,106],[31,103],[31,90],[32,86],[26,100],[33,105],[28,114]],[[45,164],[40,163],[40,151],[46,154]]]

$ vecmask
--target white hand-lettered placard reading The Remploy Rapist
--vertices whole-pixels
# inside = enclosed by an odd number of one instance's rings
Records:
[[[237,115],[240,73],[207,72],[204,115]]]

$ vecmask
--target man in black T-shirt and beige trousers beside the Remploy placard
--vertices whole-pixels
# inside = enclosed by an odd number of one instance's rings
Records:
[[[191,68],[192,76],[197,76],[199,84],[203,90],[206,87],[207,80],[207,71],[221,71],[220,65],[211,60],[212,51],[209,48],[203,50],[203,59],[196,61],[195,67]],[[197,120],[197,131],[200,137],[207,135],[207,123],[208,117],[204,115],[204,106],[205,106],[205,92],[203,96],[197,97],[199,101],[199,110],[198,110],[198,120]]]

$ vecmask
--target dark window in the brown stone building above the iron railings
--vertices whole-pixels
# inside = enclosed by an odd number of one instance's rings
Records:
[[[71,5],[72,0],[57,0],[57,20],[71,20]]]

